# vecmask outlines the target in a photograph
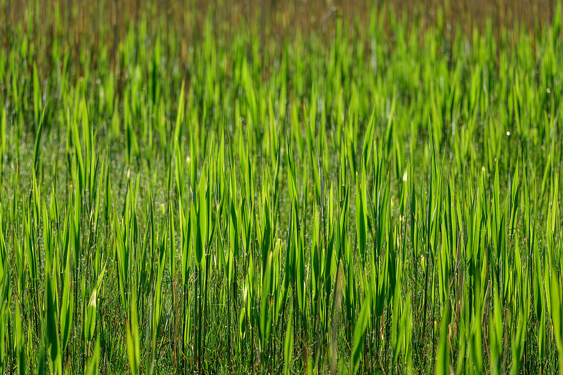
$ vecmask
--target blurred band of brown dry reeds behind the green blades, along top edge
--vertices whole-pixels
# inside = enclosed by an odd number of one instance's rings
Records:
[[[388,10],[406,21],[416,19],[420,25],[441,23],[454,32],[471,33],[482,29],[486,21],[498,34],[501,28],[519,31],[540,30],[555,14],[561,0],[0,0],[0,35],[10,48],[16,32],[40,33],[46,42],[55,33],[66,33],[70,46],[81,38],[97,43],[118,44],[126,30],[141,19],[147,32],[160,30],[187,41],[203,34],[205,20],[211,20],[217,34],[229,35],[239,28],[260,28],[262,38],[293,38],[298,33],[330,37],[338,17],[355,25],[361,39],[369,31],[372,10]],[[385,17],[384,17],[385,18]],[[385,21],[385,20],[383,20]],[[265,42],[264,41],[264,42]]]

